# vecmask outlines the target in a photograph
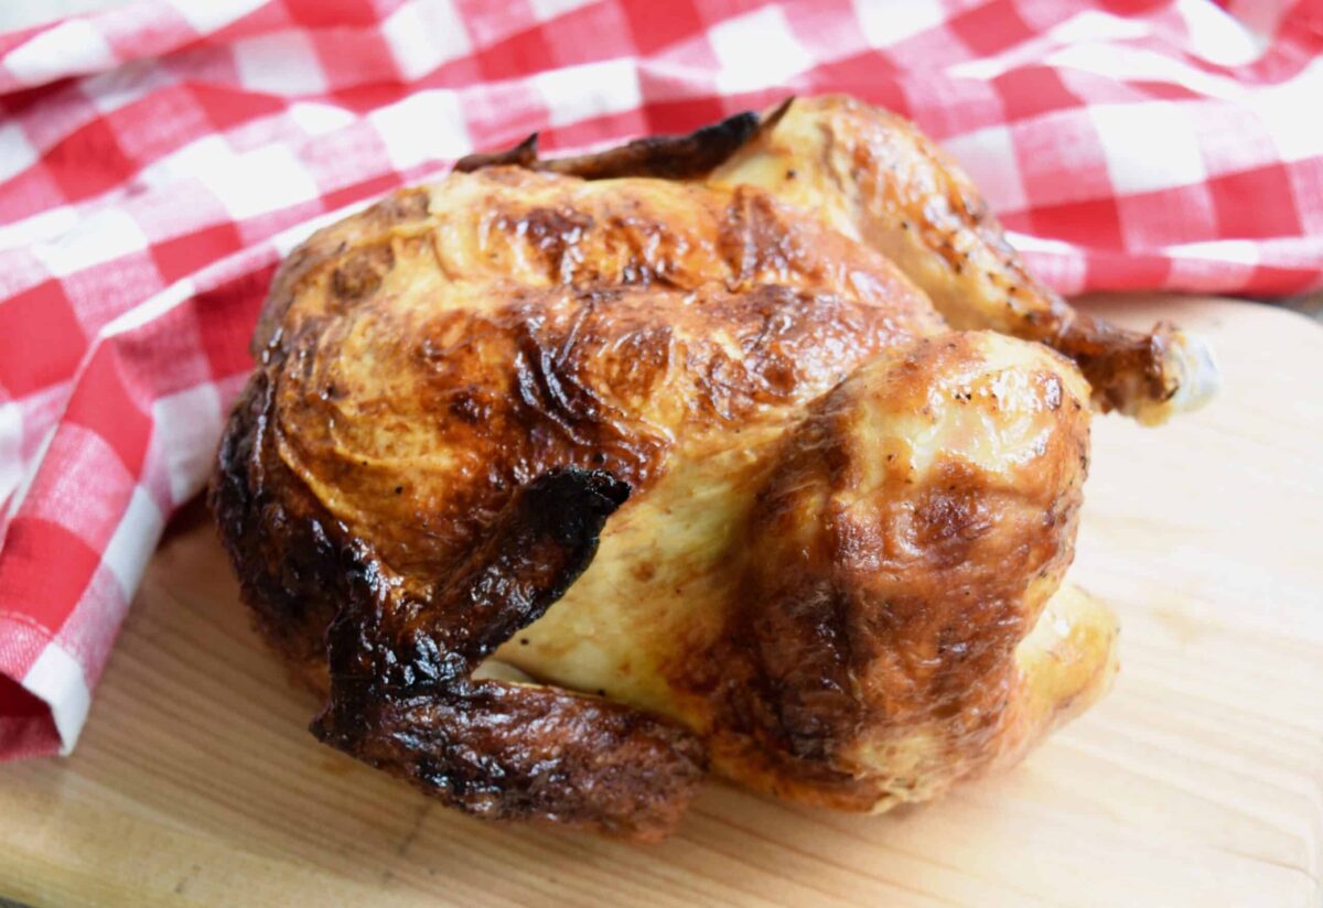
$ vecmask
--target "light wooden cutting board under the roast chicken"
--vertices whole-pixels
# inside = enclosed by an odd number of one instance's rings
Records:
[[[147,572],[77,753],[0,767],[0,895],[36,904],[1323,904],[1323,328],[1111,300],[1212,338],[1207,410],[1094,423],[1076,582],[1113,694],[1009,775],[836,815],[713,784],[647,849],[484,825],[315,743],[210,526]]]

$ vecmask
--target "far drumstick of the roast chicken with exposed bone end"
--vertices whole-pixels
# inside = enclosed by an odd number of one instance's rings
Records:
[[[1077,312],[1024,268],[955,161],[908,120],[847,96],[795,99],[708,177],[755,185],[881,251],[954,328],[1040,341],[1084,369],[1094,406],[1146,424],[1217,389],[1207,345]]]

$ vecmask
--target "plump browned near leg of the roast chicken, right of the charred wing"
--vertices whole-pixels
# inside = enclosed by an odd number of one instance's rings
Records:
[[[705,660],[718,763],[867,810],[1017,755],[1056,719],[1015,653],[1072,556],[1088,412],[1076,377],[1024,354],[926,338],[861,366],[782,441]],[[1091,623],[1082,661],[1106,674],[1106,620]]]

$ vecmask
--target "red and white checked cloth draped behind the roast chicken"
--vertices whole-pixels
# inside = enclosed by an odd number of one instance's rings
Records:
[[[1323,1],[146,0],[0,34],[0,759],[67,752],[279,256],[471,149],[917,120],[1065,293],[1323,283]]]

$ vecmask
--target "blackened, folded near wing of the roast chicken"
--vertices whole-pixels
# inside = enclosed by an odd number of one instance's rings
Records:
[[[446,576],[364,556],[327,636],[331,702],[312,731],[482,817],[664,834],[703,775],[692,735],[623,703],[472,678],[578,579],[627,496],[607,473],[554,471]]]

